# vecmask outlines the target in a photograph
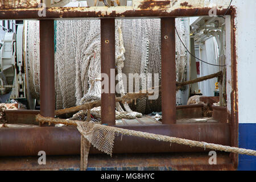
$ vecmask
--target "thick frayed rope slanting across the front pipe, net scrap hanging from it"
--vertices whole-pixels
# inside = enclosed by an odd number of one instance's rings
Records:
[[[177,137],[169,137],[166,135],[152,134],[152,133],[146,133],[142,131],[121,129],[113,126],[100,125],[91,121],[90,122],[70,121],[67,119],[42,117],[42,115],[40,114],[36,116],[36,121],[42,122],[42,123],[48,122],[49,125],[51,123],[55,123],[55,124],[61,123],[64,125],[77,126],[77,130],[79,130],[79,132],[81,133],[81,136],[84,137],[83,139],[81,139],[81,147],[83,148],[83,150],[81,148],[81,156],[82,156],[81,165],[83,164],[81,169],[84,169],[84,170],[86,169],[85,165],[87,165],[86,163],[87,158],[85,159],[84,157],[88,156],[88,153],[89,153],[89,148],[85,147],[85,144],[90,143],[94,147],[96,147],[98,150],[112,156],[115,134],[117,135],[122,134],[127,136],[142,137],[146,139],[154,139],[154,140],[163,141],[163,142],[170,142],[170,146],[171,146],[171,143],[177,143],[177,144],[183,144],[191,147],[201,147],[201,148],[204,148],[205,150],[206,148],[208,148],[211,150],[256,156],[255,150],[249,150],[246,148],[223,146],[221,144],[200,142],[200,141],[177,138]],[[99,137],[99,136],[102,136],[102,137]]]

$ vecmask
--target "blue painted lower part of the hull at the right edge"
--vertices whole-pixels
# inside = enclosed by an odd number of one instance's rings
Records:
[[[256,150],[256,123],[239,124],[239,147]],[[239,155],[237,170],[256,171],[256,156]]]

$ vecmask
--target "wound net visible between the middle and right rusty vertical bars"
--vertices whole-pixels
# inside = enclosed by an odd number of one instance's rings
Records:
[[[123,42],[126,49],[123,73],[129,80],[129,73],[159,73],[161,72],[160,56],[160,19],[123,19]],[[154,78],[154,76],[152,76]],[[154,80],[152,80],[154,83]],[[129,83],[130,84],[130,83]],[[127,92],[129,91],[127,84]],[[135,82],[141,89],[145,82]],[[160,82],[159,82],[160,84]],[[152,85],[154,86],[154,85]],[[135,88],[135,85],[134,85]],[[131,109],[140,113],[159,111],[160,96],[157,100],[139,99]]]

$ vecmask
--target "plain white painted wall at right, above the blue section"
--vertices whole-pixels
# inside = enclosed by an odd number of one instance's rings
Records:
[[[237,0],[238,119],[256,123],[256,1]]]

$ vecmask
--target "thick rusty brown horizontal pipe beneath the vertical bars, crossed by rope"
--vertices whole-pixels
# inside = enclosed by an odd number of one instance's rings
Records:
[[[229,123],[143,125],[122,128],[230,146]],[[23,127],[0,130],[0,156],[32,156],[38,155],[39,151],[45,151],[47,155],[80,154],[81,135],[76,127]],[[115,137],[113,148],[114,154],[200,151],[204,151],[204,148],[175,143],[170,146],[168,142],[121,134]],[[90,148],[90,154],[101,153],[94,147]]]

